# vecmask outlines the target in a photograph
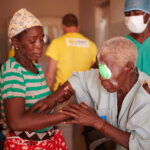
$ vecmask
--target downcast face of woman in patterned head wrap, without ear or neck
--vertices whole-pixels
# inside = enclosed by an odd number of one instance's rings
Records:
[[[40,26],[35,26],[27,29],[21,40],[18,42],[18,49],[22,56],[29,60],[37,60],[42,55],[44,46],[44,33]]]

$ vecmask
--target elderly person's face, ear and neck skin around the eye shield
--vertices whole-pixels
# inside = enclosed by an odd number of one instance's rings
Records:
[[[124,69],[122,69],[118,65],[112,65],[115,64],[113,63],[115,60],[113,60],[113,56],[111,55],[105,56],[104,58],[101,57],[101,61],[105,62],[108,68],[110,68],[112,76],[109,80],[106,80],[99,75],[99,79],[108,92],[112,93],[117,91],[119,115],[124,97],[136,83],[138,74],[134,69],[134,64],[131,62],[128,62]]]

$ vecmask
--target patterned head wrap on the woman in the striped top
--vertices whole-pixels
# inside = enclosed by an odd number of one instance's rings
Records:
[[[8,37],[11,39],[22,31],[34,26],[42,26],[42,24],[32,13],[22,8],[13,15],[10,21]]]

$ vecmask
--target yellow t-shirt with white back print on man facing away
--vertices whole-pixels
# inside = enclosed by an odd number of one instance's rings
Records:
[[[64,83],[72,72],[86,71],[95,62],[96,45],[80,33],[67,33],[54,39],[49,45],[46,55],[56,60],[56,83]]]

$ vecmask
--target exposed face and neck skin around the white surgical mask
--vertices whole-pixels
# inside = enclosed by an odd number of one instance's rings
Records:
[[[143,12],[143,11],[132,10],[132,11],[126,12],[125,16],[138,16],[138,15],[144,15],[144,14],[145,14],[145,12]],[[149,18],[150,18],[150,15],[145,14],[145,16],[143,18],[144,23],[147,23]],[[142,44],[150,36],[150,22],[148,23],[144,32],[142,32],[140,34],[130,33],[130,36]]]

